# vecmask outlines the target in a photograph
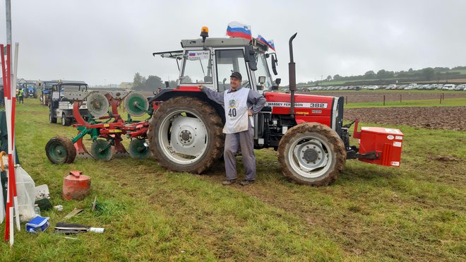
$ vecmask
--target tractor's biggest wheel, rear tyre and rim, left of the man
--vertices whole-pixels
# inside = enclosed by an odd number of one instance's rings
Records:
[[[223,123],[207,102],[174,97],[161,103],[150,120],[150,150],[162,167],[201,174],[222,155]]]

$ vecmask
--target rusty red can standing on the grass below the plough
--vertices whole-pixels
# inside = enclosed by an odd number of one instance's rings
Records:
[[[64,200],[81,200],[90,194],[90,177],[81,171],[71,171],[63,179]]]

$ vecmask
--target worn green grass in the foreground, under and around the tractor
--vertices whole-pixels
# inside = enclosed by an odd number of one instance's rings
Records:
[[[85,208],[68,222],[105,232],[65,239],[52,228],[23,230],[12,249],[0,244],[0,261],[466,260],[465,132],[395,126],[405,133],[400,168],[349,160],[325,187],[292,183],[275,151],[257,150],[256,184],[225,187],[222,163],[201,176],[129,158],[52,165],[44,145],[76,131],[49,124],[37,100],[18,105],[17,123],[22,166],[37,185],[48,184],[54,205],[64,206],[42,215],[53,227]],[[63,177],[73,169],[92,177],[84,201],[61,200]],[[90,210],[94,197],[98,212]]]

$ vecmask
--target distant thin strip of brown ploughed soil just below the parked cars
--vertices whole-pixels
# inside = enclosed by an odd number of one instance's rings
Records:
[[[345,97],[345,102],[348,103],[365,103],[365,102],[383,102],[383,96],[385,95],[385,100],[388,101],[402,101],[405,100],[429,100],[429,99],[438,99],[440,101],[441,95],[444,99],[447,98],[459,98],[466,97],[465,91],[458,91],[455,93],[411,93],[410,91],[397,91],[387,90],[386,92],[359,92],[355,90],[351,91],[334,91],[334,92],[307,92],[301,93],[306,95],[329,95],[333,97]]]

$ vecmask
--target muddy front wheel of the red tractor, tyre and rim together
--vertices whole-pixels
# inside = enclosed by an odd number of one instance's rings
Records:
[[[341,138],[328,126],[303,123],[282,137],[278,160],[283,174],[299,184],[325,186],[345,168],[346,150]]]

